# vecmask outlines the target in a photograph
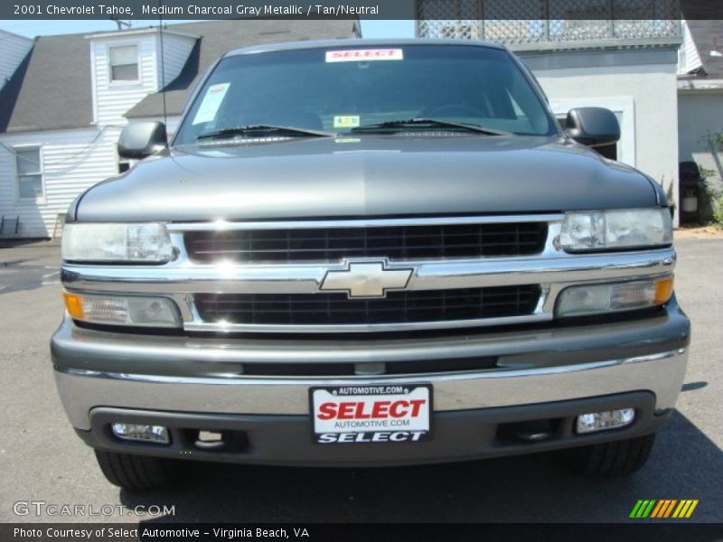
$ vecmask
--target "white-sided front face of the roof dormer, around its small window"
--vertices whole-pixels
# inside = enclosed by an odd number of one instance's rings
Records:
[[[123,114],[147,94],[158,89],[155,37],[152,34],[132,35],[127,38],[91,40],[91,61],[95,77],[95,118],[99,126],[125,126]],[[110,81],[108,49],[136,45],[138,48],[137,82]]]

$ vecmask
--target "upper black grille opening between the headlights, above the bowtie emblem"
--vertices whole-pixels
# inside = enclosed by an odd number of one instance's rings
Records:
[[[529,256],[542,251],[547,229],[544,222],[514,222],[188,231],[184,238],[186,251],[196,262],[328,262],[350,257],[401,260]]]

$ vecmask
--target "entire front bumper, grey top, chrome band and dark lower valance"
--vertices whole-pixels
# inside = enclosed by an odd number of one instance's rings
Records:
[[[689,342],[690,322],[673,299],[643,320],[404,339],[141,336],[91,331],[66,320],[52,338],[52,359],[70,422],[94,446],[243,463],[430,463],[652,433],[675,405]],[[499,369],[348,378],[239,374],[251,361],[374,363],[490,355],[498,357]],[[418,382],[434,389],[435,437],[429,443],[354,445],[343,457],[311,444],[310,387]],[[608,403],[631,406],[627,403],[641,393],[648,399],[644,406],[632,405],[639,409],[633,425],[572,434],[578,414]],[[127,421],[163,419],[171,427],[202,416],[193,427],[228,424],[248,436],[249,446],[232,456],[205,457],[193,450],[179,455],[153,444],[119,444],[109,436],[108,423],[98,425],[99,419],[108,422],[103,417],[108,412]],[[547,443],[512,446],[490,436],[510,420],[550,417],[562,421],[559,435]]]

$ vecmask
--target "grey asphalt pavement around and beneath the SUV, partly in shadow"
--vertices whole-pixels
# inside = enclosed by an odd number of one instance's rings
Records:
[[[677,412],[631,477],[580,478],[559,453],[386,469],[188,462],[183,485],[145,494],[103,478],[55,391],[48,341],[61,319],[60,248],[0,248],[0,521],[617,522],[639,499],[698,499],[689,521],[721,522],[723,240],[676,247],[676,290],[693,322],[690,364]],[[65,504],[84,506],[86,516],[47,513]]]

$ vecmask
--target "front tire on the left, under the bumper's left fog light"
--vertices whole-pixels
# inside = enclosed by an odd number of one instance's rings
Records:
[[[176,462],[145,455],[95,450],[100,470],[106,479],[129,491],[163,488],[180,478]]]

